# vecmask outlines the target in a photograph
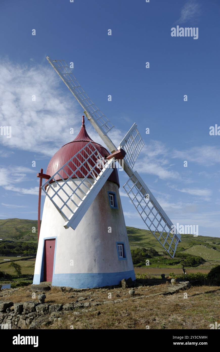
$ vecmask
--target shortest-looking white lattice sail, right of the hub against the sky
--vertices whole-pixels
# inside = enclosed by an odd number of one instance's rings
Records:
[[[119,144],[119,148],[124,149],[126,152],[124,159],[127,161],[131,169],[133,169],[138,154],[143,146],[143,139],[137,129],[137,125],[134,124]]]

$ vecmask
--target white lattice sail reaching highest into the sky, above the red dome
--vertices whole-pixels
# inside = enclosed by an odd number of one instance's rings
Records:
[[[103,134],[108,133],[114,125],[109,121],[109,119],[97,108],[97,106],[92,102],[89,96],[85,93],[84,89],[80,86],[76,77],[73,76],[71,69],[66,64],[64,60],[51,60],[47,56],[48,62],[69,88],[71,93],[78,100],[80,105],[83,107],[85,112],[89,113],[94,121],[97,123],[99,128],[103,131]]]

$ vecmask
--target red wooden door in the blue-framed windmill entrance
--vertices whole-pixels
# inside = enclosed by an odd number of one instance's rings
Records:
[[[52,238],[44,242],[44,281],[52,282],[55,241]]]

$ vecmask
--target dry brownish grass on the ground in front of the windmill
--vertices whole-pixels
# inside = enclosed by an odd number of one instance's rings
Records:
[[[46,292],[47,303],[82,302],[108,303],[94,307],[93,311],[76,309],[61,315],[62,320],[48,326],[48,329],[209,329],[209,324],[219,321],[220,287],[200,286],[169,296],[149,296],[167,290],[168,284],[135,289],[135,298],[128,291],[115,289],[90,289],[62,292],[53,287]],[[11,290],[10,290],[11,291]],[[33,287],[19,288],[1,297],[1,301],[24,302],[32,300]],[[112,298],[108,298],[108,294]],[[141,298],[141,296],[145,296]],[[140,298],[138,298],[140,297]],[[127,301],[114,303],[114,300]],[[75,315],[75,312],[79,315]],[[42,327],[45,329],[45,327]]]

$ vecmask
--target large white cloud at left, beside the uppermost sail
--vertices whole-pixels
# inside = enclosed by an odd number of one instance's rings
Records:
[[[49,65],[5,61],[0,76],[1,125],[12,127],[12,137],[0,136],[0,144],[51,156],[75,138],[70,128],[80,126],[79,105],[68,89],[58,89],[63,83]]]

